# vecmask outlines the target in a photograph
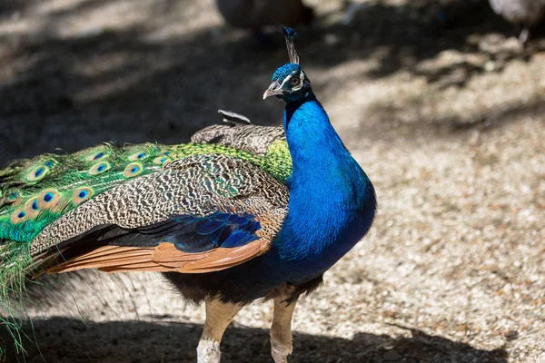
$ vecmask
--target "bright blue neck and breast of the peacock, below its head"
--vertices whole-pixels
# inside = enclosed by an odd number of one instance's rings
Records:
[[[329,268],[371,227],[372,183],[312,93],[287,103],[284,129],[293,172],[289,213],[276,246],[282,260],[315,260],[315,270]]]

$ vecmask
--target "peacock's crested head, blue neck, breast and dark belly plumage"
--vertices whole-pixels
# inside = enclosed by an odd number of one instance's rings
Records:
[[[342,144],[299,64],[284,64],[274,72],[263,98],[272,95],[286,103],[283,128],[293,167],[286,182],[288,215],[272,249],[262,256],[208,275],[169,274],[190,299],[212,294],[247,303],[285,283],[296,288],[296,299],[371,228],[376,209],[372,182]]]

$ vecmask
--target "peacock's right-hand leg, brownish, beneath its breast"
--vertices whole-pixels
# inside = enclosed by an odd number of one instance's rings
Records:
[[[292,354],[292,316],[295,303],[285,302],[285,297],[274,299],[274,315],[271,326],[271,355],[274,363],[287,363]]]

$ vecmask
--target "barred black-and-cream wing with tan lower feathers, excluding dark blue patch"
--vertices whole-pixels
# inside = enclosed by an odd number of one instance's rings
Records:
[[[218,179],[223,182],[217,183]],[[171,162],[160,172],[104,191],[64,214],[36,237],[31,253],[36,266],[47,273],[224,270],[269,250],[287,214],[288,200],[284,185],[249,162],[227,155],[190,156]],[[240,247],[190,253],[169,242],[154,247],[137,243],[116,246],[111,240],[93,240],[93,235],[85,234],[112,225],[136,233],[138,228],[166,221],[172,214],[203,217],[214,211],[255,216],[261,226],[255,231],[258,239]],[[100,246],[103,242],[110,244]]]

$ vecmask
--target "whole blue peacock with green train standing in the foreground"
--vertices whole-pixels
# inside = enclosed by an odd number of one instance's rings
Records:
[[[287,362],[297,299],[370,230],[377,202],[312,92],[296,33],[283,34],[290,63],[263,94],[285,102],[283,127],[221,112],[227,123],[189,143],[104,143],[0,171],[4,309],[44,273],[163,272],[205,304],[199,363],[220,361],[224,330],[255,299],[273,300],[272,358]]]

